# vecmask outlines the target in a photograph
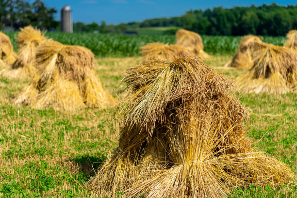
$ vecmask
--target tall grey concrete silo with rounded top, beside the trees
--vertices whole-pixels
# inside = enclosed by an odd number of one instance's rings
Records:
[[[61,32],[73,32],[72,13],[69,5],[64,5],[61,10]]]

